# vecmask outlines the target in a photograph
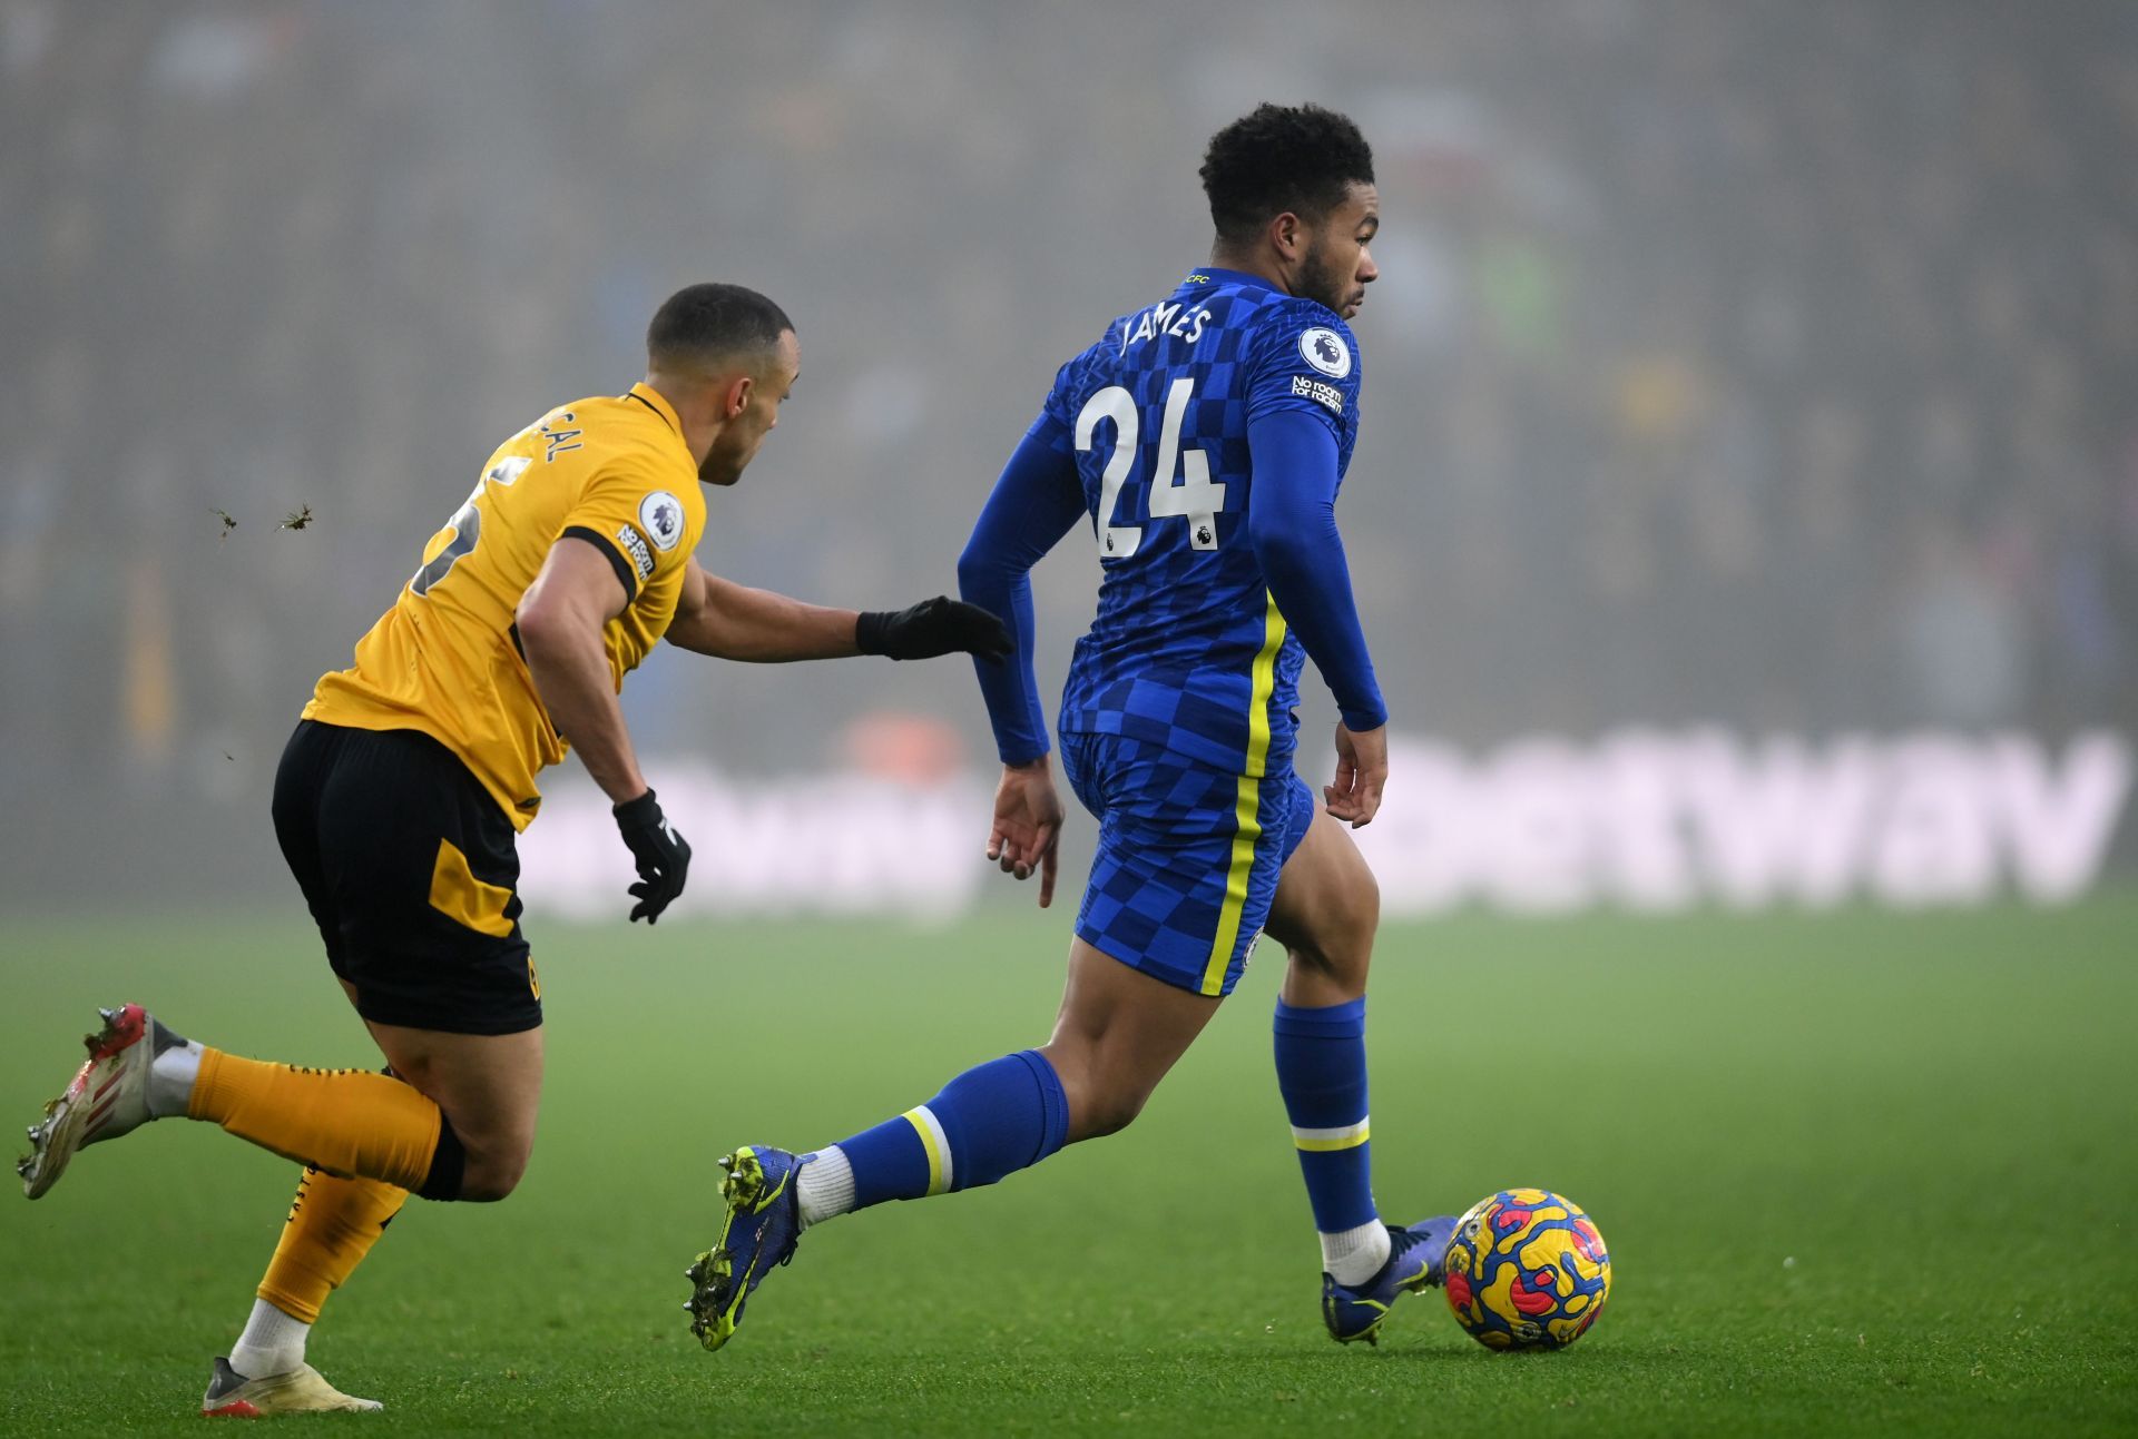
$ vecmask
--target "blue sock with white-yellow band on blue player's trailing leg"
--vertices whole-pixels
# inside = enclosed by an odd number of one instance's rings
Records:
[[[1069,1138],[1069,1097],[1054,1065],[1020,1050],[966,1069],[928,1103],[838,1148],[853,1165],[853,1208],[977,1189],[1028,1170]]]

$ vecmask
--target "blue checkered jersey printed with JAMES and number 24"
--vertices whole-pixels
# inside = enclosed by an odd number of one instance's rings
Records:
[[[1358,344],[1334,310],[1227,269],[1197,269],[1060,368],[1048,430],[1073,453],[1101,567],[1065,733],[1238,765],[1259,731],[1268,761],[1289,763],[1304,652],[1249,547],[1246,432],[1276,411],[1313,415],[1336,436],[1341,477],[1358,396]]]

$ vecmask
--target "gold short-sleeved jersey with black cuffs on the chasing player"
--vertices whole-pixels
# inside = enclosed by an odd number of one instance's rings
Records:
[[[490,455],[423,567],[357,641],[355,667],[321,678],[304,716],[432,736],[526,830],[541,806],[534,776],[564,757],[564,736],[520,652],[520,597],[560,537],[605,554],[629,594],[603,629],[622,688],[676,618],[703,528],[697,466],[656,391],[633,385],[549,411]]]

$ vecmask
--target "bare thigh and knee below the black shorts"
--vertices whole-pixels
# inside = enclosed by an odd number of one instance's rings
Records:
[[[502,1197],[534,1150],[543,1031],[455,1035],[368,1022],[393,1073],[428,1095],[468,1150],[464,1195]]]

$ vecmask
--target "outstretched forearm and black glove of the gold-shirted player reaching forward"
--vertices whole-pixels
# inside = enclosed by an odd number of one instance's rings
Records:
[[[849,654],[996,656],[1009,650],[1003,622],[977,605],[936,597],[900,612],[832,609],[723,579],[697,560],[684,573],[682,601],[665,639],[697,654],[761,665]]]

